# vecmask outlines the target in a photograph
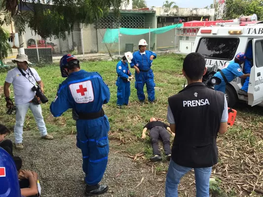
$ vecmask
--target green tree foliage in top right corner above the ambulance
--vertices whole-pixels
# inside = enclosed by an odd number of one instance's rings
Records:
[[[257,14],[258,20],[263,19],[263,0],[226,0],[225,19],[239,18],[240,15]]]

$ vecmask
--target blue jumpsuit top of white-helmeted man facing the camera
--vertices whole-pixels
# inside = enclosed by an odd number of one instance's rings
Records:
[[[150,60],[150,56],[154,56],[153,59],[156,59],[157,55],[152,51],[145,51],[145,54],[141,54],[140,51],[136,51],[133,53],[133,59],[131,62],[131,67],[137,66],[139,70],[147,71],[150,70],[150,66],[152,65],[152,60]]]

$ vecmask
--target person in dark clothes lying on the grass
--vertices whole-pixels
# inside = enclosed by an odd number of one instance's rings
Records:
[[[153,149],[153,157],[150,158],[150,161],[151,162],[162,161],[162,157],[161,157],[159,146],[158,146],[158,139],[162,140],[166,159],[167,159],[167,161],[170,161],[170,159],[171,159],[171,147],[170,147],[170,134],[169,134],[169,132],[171,132],[173,136],[175,136],[175,133],[173,133],[170,130],[170,127],[168,125],[166,125],[165,123],[163,123],[161,121],[157,121],[153,117],[150,118],[150,122],[144,126],[144,130],[142,133],[143,139],[146,138],[147,130],[150,130],[150,141],[151,141],[151,146]]]

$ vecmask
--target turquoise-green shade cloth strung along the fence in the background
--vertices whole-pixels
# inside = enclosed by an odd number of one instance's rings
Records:
[[[118,35],[125,34],[125,35],[141,35],[145,33],[165,33],[175,28],[181,28],[183,24],[176,24],[176,25],[169,25],[162,28],[155,28],[155,29],[131,29],[131,28],[120,28],[120,29],[107,29],[102,43],[114,43],[118,42]]]

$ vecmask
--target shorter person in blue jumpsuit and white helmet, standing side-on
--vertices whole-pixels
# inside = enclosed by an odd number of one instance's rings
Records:
[[[122,59],[118,62],[116,66],[116,72],[118,74],[118,79],[116,80],[117,88],[117,106],[128,105],[129,97],[131,94],[131,84],[132,73],[129,70],[128,63],[131,63],[133,55],[131,52],[124,54]]]

